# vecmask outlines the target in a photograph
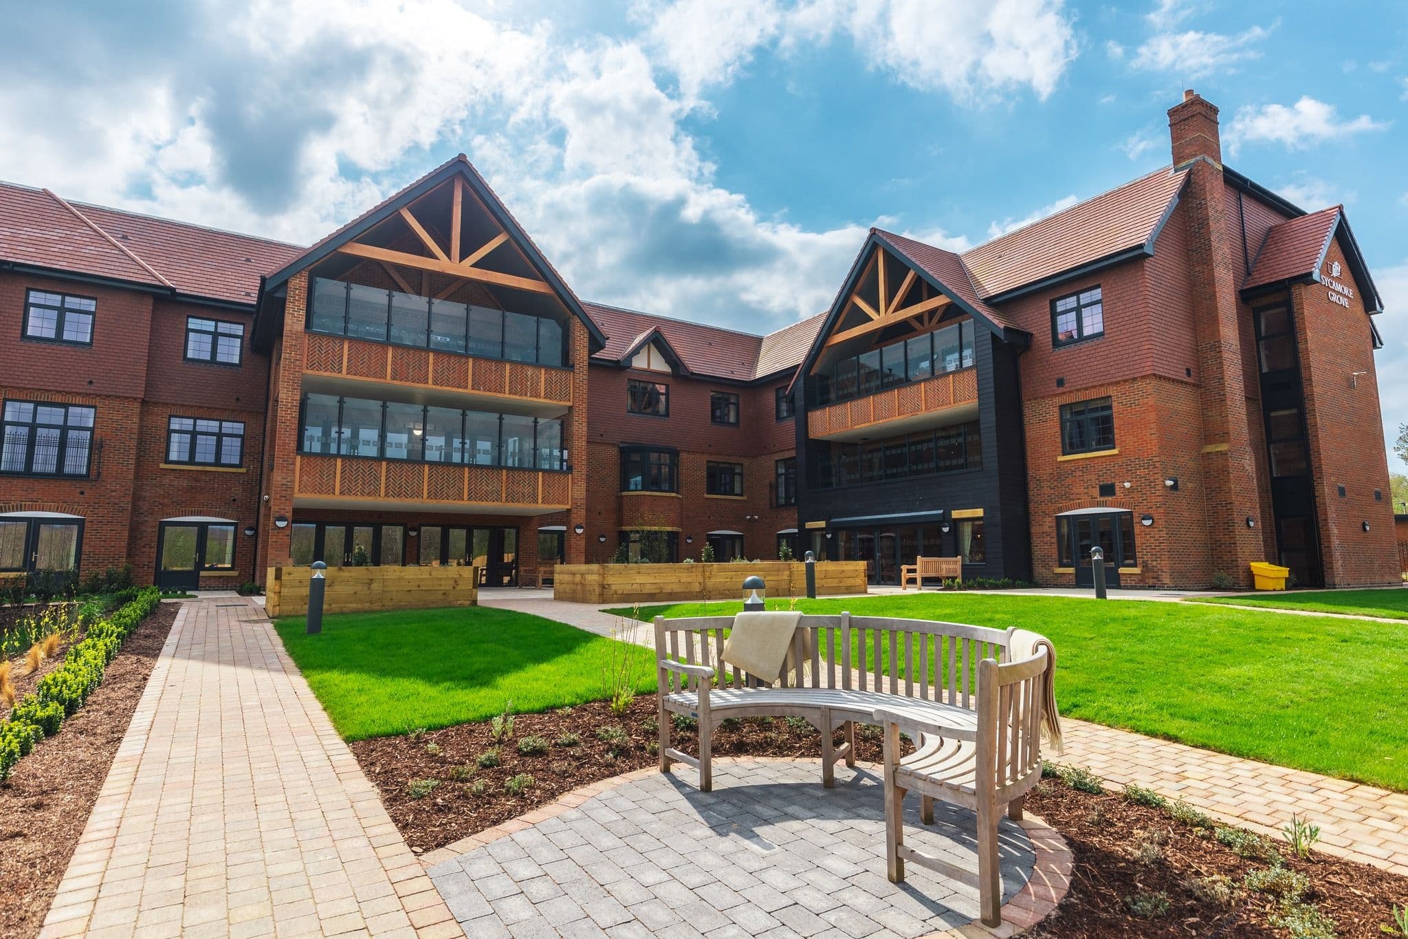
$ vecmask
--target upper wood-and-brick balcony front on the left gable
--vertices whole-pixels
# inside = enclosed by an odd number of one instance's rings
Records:
[[[413,386],[453,394],[469,407],[520,403],[538,417],[572,405],[572,369],[307,334],[304,373],[310,390],[367,394],[366,384]],[[493,410],[493,408],[490,408]]]

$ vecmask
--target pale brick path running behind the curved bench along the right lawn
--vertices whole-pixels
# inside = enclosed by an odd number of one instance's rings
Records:
[[[545,590],[524,594],[493,591],[484,603],[600,635],[610,635],[617,622],[590,604],[552,600]],[[653,645],[649,624],[635,634],[635,641]],[[1300,815],[1321,826],[1321,850],[1408,874],[1408,794],[1071,718],[1062,719],[1062,731],[1066,752],[1059,756],[1048,752],[1048,759],[1088,766],[1118,787],[1139,783],[1170,798],[1183,798],[1224,822],[1263,833],[1280,835],[1291,817]]]

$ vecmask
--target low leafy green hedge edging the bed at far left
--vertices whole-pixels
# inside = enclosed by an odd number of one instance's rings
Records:
[[[0,724],[0,781],[35,743],[58,733],[63,718],[82,707],[103,681],[103,672],[122,642],[161,600],[156,587],[135,591],[113,615],[89,626],[83,641],[69,648],[63,664],[39,679],[34,693],[14,705],[10,719]]]

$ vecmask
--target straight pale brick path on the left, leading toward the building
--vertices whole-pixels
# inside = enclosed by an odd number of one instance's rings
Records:
[[[44,936],[460,935],[263,608],[183,605]]]

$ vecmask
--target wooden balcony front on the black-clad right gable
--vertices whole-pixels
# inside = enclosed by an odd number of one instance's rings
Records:
[[[814,441],[860,441],[977,417],[977,369],[949,372],[807,412]]]

